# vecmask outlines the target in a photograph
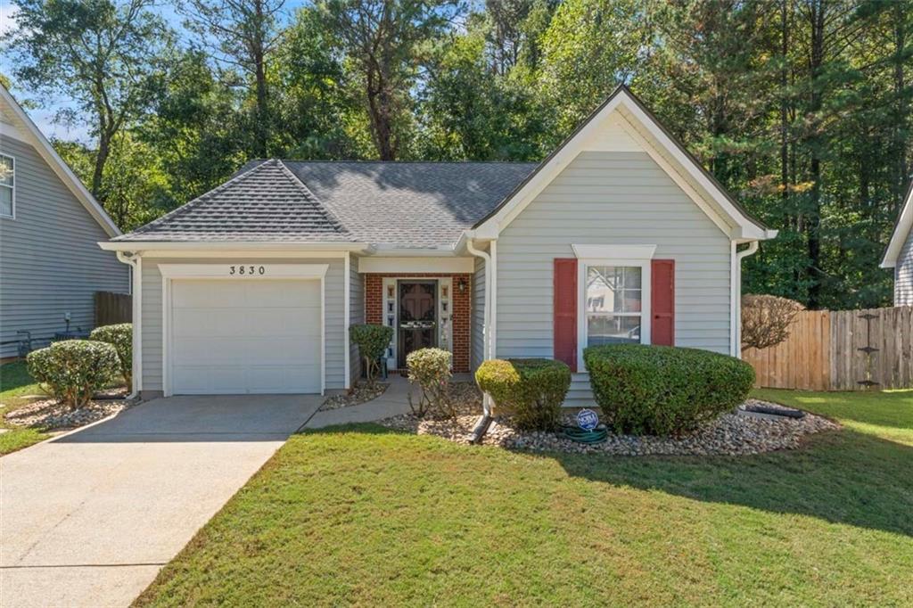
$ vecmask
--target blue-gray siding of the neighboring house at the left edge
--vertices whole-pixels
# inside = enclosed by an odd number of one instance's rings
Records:
[[[37,150],[10,137],[0,152],[16,159],[16,218],[0,218],[0,341],[16,330],[45,346],[65,329],[88,331],[95,322],[96,291],[130,291],[130,269],[102,251],[108,235]],[[15,356],[16,343],[0,357]]]

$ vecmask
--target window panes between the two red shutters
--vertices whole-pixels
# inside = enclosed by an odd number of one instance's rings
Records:
[[[586,345],[641,341],[643,269],[586,267]]]

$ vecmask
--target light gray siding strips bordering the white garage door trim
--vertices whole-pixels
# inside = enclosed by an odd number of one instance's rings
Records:
[[[242,258],[232,259],[242,263]],[[257,264],[329,264],[324,278],[324,319],[326,328],[326,388],[345,388],[346,351],[343,344],[344,267],[341,257],[262,259]],[[218,264],[212,258],[146,258],[142,259],[142,391],[161,392],[162,383],[162,273],[159,264]],[[224,263],[224,262],[222,262]]]

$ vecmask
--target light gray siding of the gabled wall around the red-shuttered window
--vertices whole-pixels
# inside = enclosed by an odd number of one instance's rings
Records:
[[[552,356],[552,260],[572,244],[676,260],[676,343],[729,352],[729,238],[645,152],[582,152],[498,237],[498,357]]]

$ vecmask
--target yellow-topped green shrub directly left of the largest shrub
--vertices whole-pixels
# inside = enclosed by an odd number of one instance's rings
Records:
[[[518,428],[550,431],[561,421],[571,368],[551,359],[492,359],[478,366],[476,383]]]

